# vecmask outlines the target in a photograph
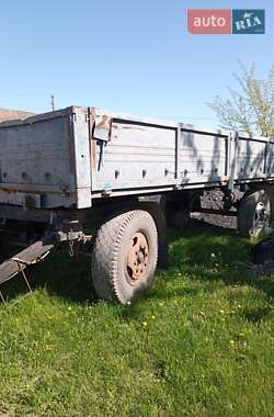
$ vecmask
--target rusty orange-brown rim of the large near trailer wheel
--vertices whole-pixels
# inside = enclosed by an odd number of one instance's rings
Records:
[[[127,279],[132,285],[137,284],[147,273],[149,246],[146,236],[137,232],[132,236],[126,259]]]

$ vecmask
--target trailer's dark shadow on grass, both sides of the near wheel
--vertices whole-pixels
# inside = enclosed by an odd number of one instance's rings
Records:
[[[170,230],[170,268],[160,271],[159,285],[151,289],[147,298],[167,300],[173,296],[195,296],[201,291],[215,291],[218,282],[226,285],[251,285],[262,291],[272,302],[274,282],[271,278],[252,278],[248,271],[251,261],[251,243],[241,239],[231,229],[213,226],[201,221],[192,221],[184,230]],[[178,286],[169,290],[165,281],[173,281],[178,273],[187,278],[193,286]],[[90,272],[90,257],[69,258],[67,252],[58,251],[43,263],[26,270],[33,289],[46,288],[57,295],[76,303],[94,303]],[[212,285],[210,285],[212,283]],[[4,295],[13,298],[22,291],[22,279],[13,279],[5,284]],[[252,316],[252,314],[251,314]],[[260,314],[258,315],[260,316]]]

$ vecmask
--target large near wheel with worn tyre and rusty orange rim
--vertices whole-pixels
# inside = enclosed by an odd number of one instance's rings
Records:
[[[100,298],[130,304],[153,279],[157,228],[145,211],[127,212],[104,223],[92,252],[92,280]]]

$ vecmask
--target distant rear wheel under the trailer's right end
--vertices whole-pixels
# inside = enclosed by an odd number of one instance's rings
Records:
[[[265,190],[243,196],[237,213],[238,230],[243,237],[258,237],[269,226],[271,201]]]

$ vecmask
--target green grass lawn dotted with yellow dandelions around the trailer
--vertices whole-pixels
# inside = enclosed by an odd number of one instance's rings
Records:
[[[172,232],[171,267],[129,308],[94,300],[88,258],[36,267],[0,307],[0,415],[273,416],[274,280],[250,275],[250,247]]]

